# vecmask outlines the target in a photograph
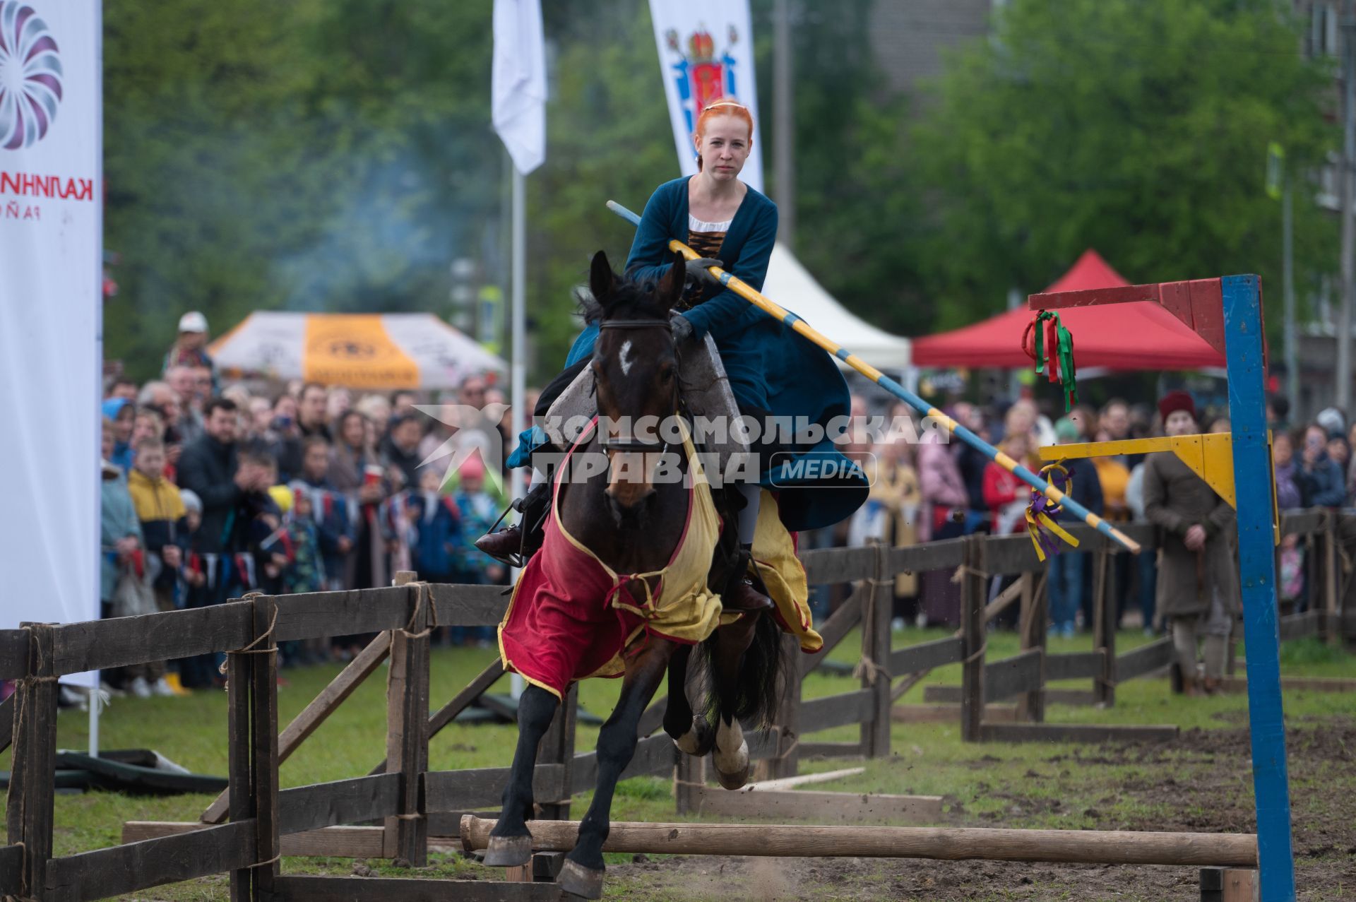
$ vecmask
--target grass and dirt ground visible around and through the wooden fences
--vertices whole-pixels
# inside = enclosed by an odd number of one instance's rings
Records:
[[[902,647],[948,635],[945,631],[909,629],[895,635],[895,646]],[[1138,632],[1119,636],[1119,651],[1127,651],[1146,639]],[[833,658],[853,662],[860,642],[849,636]],[[1056,639],[1050,651],[1086,651],[1088,636]],[[1017,651],[1013,633],[993,633],[987,658],[999,659]],[[437,707],[452,697],[494,656],[492,651],[446,650],[433,654],[431,700]],[[338,673],[338,666],[320,666],[285,671],[286,685],[279,688],[279,723],[294,716]],[[1296,640],[1283,648],[1283,671],[1292,675],[1356,677],[1356,656],[1330,648],[1317,640]],[[384,670],[378,670],[320,730],[282,765],[282,787],[296,787],[327,780],[340,780],[366,773],[382,757],[385,742]],[[926,684],[960,682],[960,666],[934,671]],[[504,681],[506,684],[506,681]],[[1086,688],[1088,681],[1063,684]],[[856,681],[849,677],[812,674],[805,680],[804,697],[812,699],[850,690]],[[618,688],[617,681],[594,680],[582,685],[580,705],[606,716]],[[506,685],[498,688],[506,692]],[[914,688],[903,701],[921,701],[922,686]],[[119,699],[102,720],[102,745],[107,749],[151,747],[179,764],[199,772],[226,772],[224,692],[199,692],[188,699]],[[1168,692],[1165,680],[1138,680],[1117,686],[1116,707],[1050,705],[1047,720],[1052,723],[1176,723],[1184,738],[1173,746],[1109,747],[1073,745],[970,745],[960,741],[959,724],[895,724],[891,734],[892,756],[865,762],[865,773],[835,784],[816,785],[816,789],[845,789],[854,792],[926,793],[945,798],[945,825],[1060,827],[1060,829],[1177,829],[1177,830],[1252,830],[1252,777],[1246,758],[1245,694],[1215,696],[1210,699],[1181,699]],[[1292,799],[1295,808],[1296,849],[1300,853],[1300,883],[1306,875],[1319,878],[1323,895],[1309,898],[1356,898],[1356,827],[1352,808],[1342,799],[1356,799],[1356,769],[1345,749],[1345,739],[1356,723],[1356,693],[1323,694],[1288,692],[1285,694],[1287,722],[1296,735],[1337,737],[1336,746],[1323,746],[1313,762],[1292,765]],[[453,724],[434,738],[430,746],[431,769],[458,769],[477,766],[504,766],[513,756],[515,741],[513,726],[458,726]],[[1242,735],[1241,764],[1238,737]],[[597,728],[579,727],[578,750],[590,750]],[[815,739],[856,739],[856,727],[816,734]],[[80,749],[87,745],[87,718],[65,712],[58,724],[61,747]],[[1295,747],[1296,739],[1291,745]],[[1356,745],[1356,742],[1353,742]],[[1315,747],[1317,749],[1317,747]],[[1215,753],[1219,753],[1216,756]],[[1356,747],[1351,750],[1356,753]],[[1292,751],[1295,754],[1302,754]],[[1220,756],[1233,754],[1233,764],[1220,766]],[[1332,761],[1328,761],[1332,758]],[[8,768],[9,756],[0,757],[0,768]],[[1325,764],[1328,761],[1328,764]],[[837,761],[805,761],[803,772],[843,766]],[[1200,789],[1197,792],[1197,789]],[[589,796],[575,798],[574,817],[587,806]],[[1222,802],[1224,800],[1224,802]],[[207,796],[134,798],[119,793],[89,792],[61,795],[56,804],[56,853],[71,855],[119,842],[123,821],[193,821],[210,802]],[[1227,811],[1220,811],[1227,804]],[[614,804],[618,821],[674,821],[669,781],[637,779],[624,784]],[[1196,825],[1196,826],[1192,826]],[[1344,833],[1345,830],[1345,833]],[[1314,842],[1306,845],[1307,836]],[[1323,838],[1319,838],[1323,837]],[[1323,848],[1326,844],[1330,848]],[[780,860],[778,860],[780,861]],[[378,861],[366,863],[373,874],[389,876],[411,875],[410,871],[389,868]],[[941,868],[934,878],[942,880],[928,888],[891,876],[898,865],[909,864],[910,875],[918,879],[921,865],[944,863],[861,861],[854,867],[823,863],[797,863],[795,880],[772,879],[767,863],[735,863],[725,868],[724,860],[689,859],[686,861],[632,861],[631,856],[612,856],[607,898],[616,899],[705,899],[705,898],[1119,898],[1162,899],[1196,898],[1182,894],[1163,895],[1181,875],[1195,880],[1189,868],[1150,869],[1143,874],[1168,871],[1169,884],[1157,878],[1146,888],[1146,895],[1135,895],[1124,879],[1108,878],[1098,888],[1078,878],[1071,890],[1062,888],[1067,874],[1060,868],[1039,865],[1022,878],[1020,893],[995,887],[984,878],[984,863],[953,863]],[[612,867],[618,865],[618,867]],[[286,874],[348,874],[350,860],[285,859]],[[964,867],[964,871],[956,868]],[[1012,876],[1024,865],[1003,865],[1001,874]],[[808,871],[807,871],[808,868]],[[1014,869],[1016,868],[1016,869]],[[785,872],[786,868],[778,871]],[[955,872],[953,872],[955,871]],[[1086,868],[1066,869],[1086,874]],[[1100,872],[1108,871],[1102,868]],[[1112,872],[1127,871],[1112,868]],[[1191,871],[1191,874],[1188,874]],[[812,874],[811,874],[812,872]],[[1054,875],[1045,880],[1040,875]],[[717,874],[715,882],[708,878]],[[456,855],[435,855],[420,876],[458,875],[464,878],[498,879],[498,875],[465,861]],[[698,879],[700,878],[700,879]],[[971,878],[979,883],[967,888]],[[1014,878],[1016,879],[1016,878]],[[1147,878],[1146,878],[1147,879]],[[952,897],[945,880],[956,883]],[[744,887],[735,888],[735,884]],[[1001,883],[1001,880],[999,880]],[[769,890],[770,887],[770,890]],[[1044,888],[1041,888],[1044,887]],[[1337,893],[1347,895],[1333,895]],[[1188,887],[1189,888],[1189,887]],[[1105,890],[1112,895],[1100,895]],[[772,893],[767,895],[766,893]],[[1048,894],[1043,894],[1048,891]],[[1064,895],[1064,893],[1073,895]],[[915,895],[922,893],[922,895]],[[759,895],[762,894],[762,895]],[[986,895],[989,894],[989,895]],[[157,887],[136,894],[138,899],[209,899],[225,898],[224,876],[206,878],[183,884]],[[1304,897],[1302,897],[1304,898]]]

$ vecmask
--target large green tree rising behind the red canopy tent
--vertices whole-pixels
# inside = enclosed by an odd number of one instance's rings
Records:
[[[1300,52],[1269,1],[1003,7],[911,136],[934,212],[913,254],[945,298],[937,326],[1001,309],[1009,288],[1043,289],[1088,247],[1132,282],[1261,273],[1279,302],[1267,144],[1303,172],[1336,142],[1330,68]],[[1296,271],[1330,269],[1330,218],[1309,190],[1295,208]]]

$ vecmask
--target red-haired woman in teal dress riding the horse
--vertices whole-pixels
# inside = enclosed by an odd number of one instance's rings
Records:
[[[645,203],[636,239],[626,259],[626,275],[640,282],[656,282],[670,266],[669,241],[678,239],[702,255],[687,262],[689,288],[683,309],[674,311],[671,324],[678,342],[705,334],[716,342],[730,388],[744,418],[763,425],[762,442],[753,450],[761,453],[762,484],[780,492],[778,514],[786,529],[814,529],[852,514],[866,498],[866,483],[860,471],[849,471],[846,458],[834,450],[826,434],[803,445],[777,445],[769,435],[769,415],[807,418],[827,426],[835,416],[849,412],[848,387],[830,357],[781,321],[727,290],[709,273],[719,266],[761,290],[767,274],[767,260],[777,237],[777,205],[739,180],[739,172],[753,146],[753,117],[749,109],[732,99],[706,106],[697,117],[693,145],[697,152],[697,175],[660,184]],[[591,324],[579,335],[565,372],[552,380],[541,393],[534,414],[544,416],[552,401],[589,365],[598,326]],[[785,435],[780,437],[785,438]],[[523,433],[518,450],[509,464],[529,463],[530,450],[544,444],[544,435]],[[829,479],[812,475],[804,479],[792,468],[789,476],[774,476],[770,469],[776,452],[788,460],[814,456],[815,473],[834,473]],[[778,454],[778,458],[782,457]],[[834,464],[830,467],[829,464]],[[510,526],[476,541],[476,547],[495,557],[530,553],[540,547],[537,525],[549,506],[549,482],[533,469],[533,487],[522,499],[522,522],[529,524],[523,536]],[[807,488],[838,491],[804,491]],[[744,555],[754,540],[762,492],[758,483],[736,483],[743,499],[738,515],[738,533]],[[747,581],[724,598],[730,610],[763,608],[766,597]]]

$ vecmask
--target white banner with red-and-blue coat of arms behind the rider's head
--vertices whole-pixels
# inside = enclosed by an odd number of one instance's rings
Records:
[[[720,98],[734,98],[754,117],[754,142],[739,178],[762,191],[762,123],[754,81],[754,35],[749,0],[650,0],[669,119],[683,175],[697,174],[692,133],[697,115]]]

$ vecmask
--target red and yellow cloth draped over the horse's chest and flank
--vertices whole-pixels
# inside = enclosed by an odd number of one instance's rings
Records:
[[[589,435],[582,435],[580,442]],[[557,475],[541,551],[519,574],[499,624],[504,670],[564,699],[576,680],[622,675],[628,654],[643,648],[651,635],[694,644],[743,616],[724,613],[720,595],[706,587],[720,517],[687,435],[683,450],[694,475],[687,522],[669,564],[648,574],[616,572],[564,529],[557,510]],[[568,465],[559,469],[564,473]],[[797,638],[801,651],[818,651],[823,639],[811,624],[805,571],[796,557],[795,538],[777,515],[776,496],[767,491],[758,513],[753,557],[776,602],[777,624]]]

